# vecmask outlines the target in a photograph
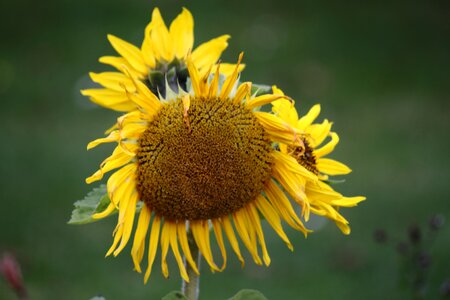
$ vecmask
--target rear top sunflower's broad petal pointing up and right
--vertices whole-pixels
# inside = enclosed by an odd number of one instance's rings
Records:
[[[229,35],[223,35],[198,46],[192,52],[192,60],[197,68],[208,69],[211,65],[214,65],[219,60],[223,50],[228,47],[227,40],[229,38]]]

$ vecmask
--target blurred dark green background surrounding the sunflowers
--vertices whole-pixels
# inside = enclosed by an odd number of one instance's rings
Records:
[[[223,273],[204,267],[201,299],[226,299],[241,288],[269,299],[408,299],[398,289],[396,241],[408,226],[450,218],[450,2],[448,1],[2,1],[0,3],[0,251],[14,253],[31,299],[159,299],[178,289],[171,262],[159,261],[146,286],[132,271],[129,248],[104,258],[115,220],[66,222],[84,183],[111,147],[86,152],[114,112],[95,107],[79,90],[97,62],[115,54],[113,33],[140,44],[155,6],[167,22],[186,6],[196,45],[229,33],[225,61],[245,51],[244,80],[274,83],[302,112],[322,104],[341,143],[334,158],[354,172],[337,187],[368,200],[343,210],[352,234],[315,220],[306,240],[287,230],[291,253],[267,230],[272,264],[231,255]],[[373,240],[378,228],[390,245]],[[266,228],[269,229],[269,228]],[[425,234],[425,233],[424,233]],[[428,299],[450,277],[450,226],[429,248]],[[0,281],[0,299],[15,299]]]

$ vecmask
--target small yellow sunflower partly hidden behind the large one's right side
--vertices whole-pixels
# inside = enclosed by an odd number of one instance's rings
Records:
[[[273,88],[273,92],[284,95],[276,87]],[[308,221],[310,212],[325,216],[334,220],[344,234],[350,234],[348,221],[338,212],[339,208],[356,206],[366,198],[362,196],[344,197],[326,183],[328,175],[345,175],[351,172],[350,168],[343,163],[325,157],[334,150],[339,142],[339,136],[331,131],[332,123],[325,119],[320,124],[313,124],[320,113],[319,104],[314,105],[301,118],[298,117],[295,106],[285,99],[274,101],[272,110],[287,124],[302,132],[301,146],[280,143],[280,151],[295,158],[300,165],[319,178],[317,181],[303,180],[303,184],[301,184],[304,186],[303,197],[309,204],[309,207],[303,210],[305,220]],[[327,138],[329,141],[324,144]]]

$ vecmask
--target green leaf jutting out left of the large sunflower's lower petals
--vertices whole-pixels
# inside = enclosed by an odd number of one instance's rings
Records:
[[[68,224],[86,224],[97,221],[93,214],[102,212],[109,205],[109,197],[106,185],[102,184],[90,191],[83,200],[76,201]]]

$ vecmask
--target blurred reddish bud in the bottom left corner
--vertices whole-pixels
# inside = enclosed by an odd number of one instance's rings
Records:
[[[4,253],[0,259],[0,274],[5,278],[8,285],[20,297],[25,296],[26,290],[23,285],[22,272],[16,258],[9,253]]]

